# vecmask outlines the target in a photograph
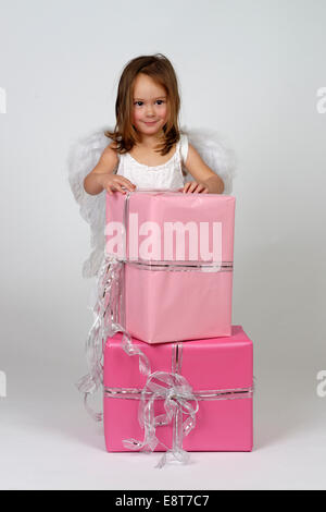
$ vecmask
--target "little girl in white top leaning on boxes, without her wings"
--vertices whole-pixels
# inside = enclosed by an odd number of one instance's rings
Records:
[[[188,144],[178,125],[180,99],[175,71],[164,56],[133,59],[125,66],[115,103],[112,139],[84,181],[97,195],[136,188],[222,194],[224,182]],[[185,184],[183,167],[193,181]]]

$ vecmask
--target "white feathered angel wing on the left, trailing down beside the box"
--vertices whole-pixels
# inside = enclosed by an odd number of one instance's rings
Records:
[[[104,130],[80,138],[70,148],[68,180],[74,197],[80,207],[80,215],[90,227],[91,254],[83,266],[83,276],[97,276],[104,254],[105,192],[96,196],[84,190],[84,179],[96,167],[104,148],[110,144]]]

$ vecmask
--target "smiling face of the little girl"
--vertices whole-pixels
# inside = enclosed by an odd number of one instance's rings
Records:
[[[139,73],[134,84],[133,123],[143,135],[155,135],[167,121],[167,96],[164,87]]]

